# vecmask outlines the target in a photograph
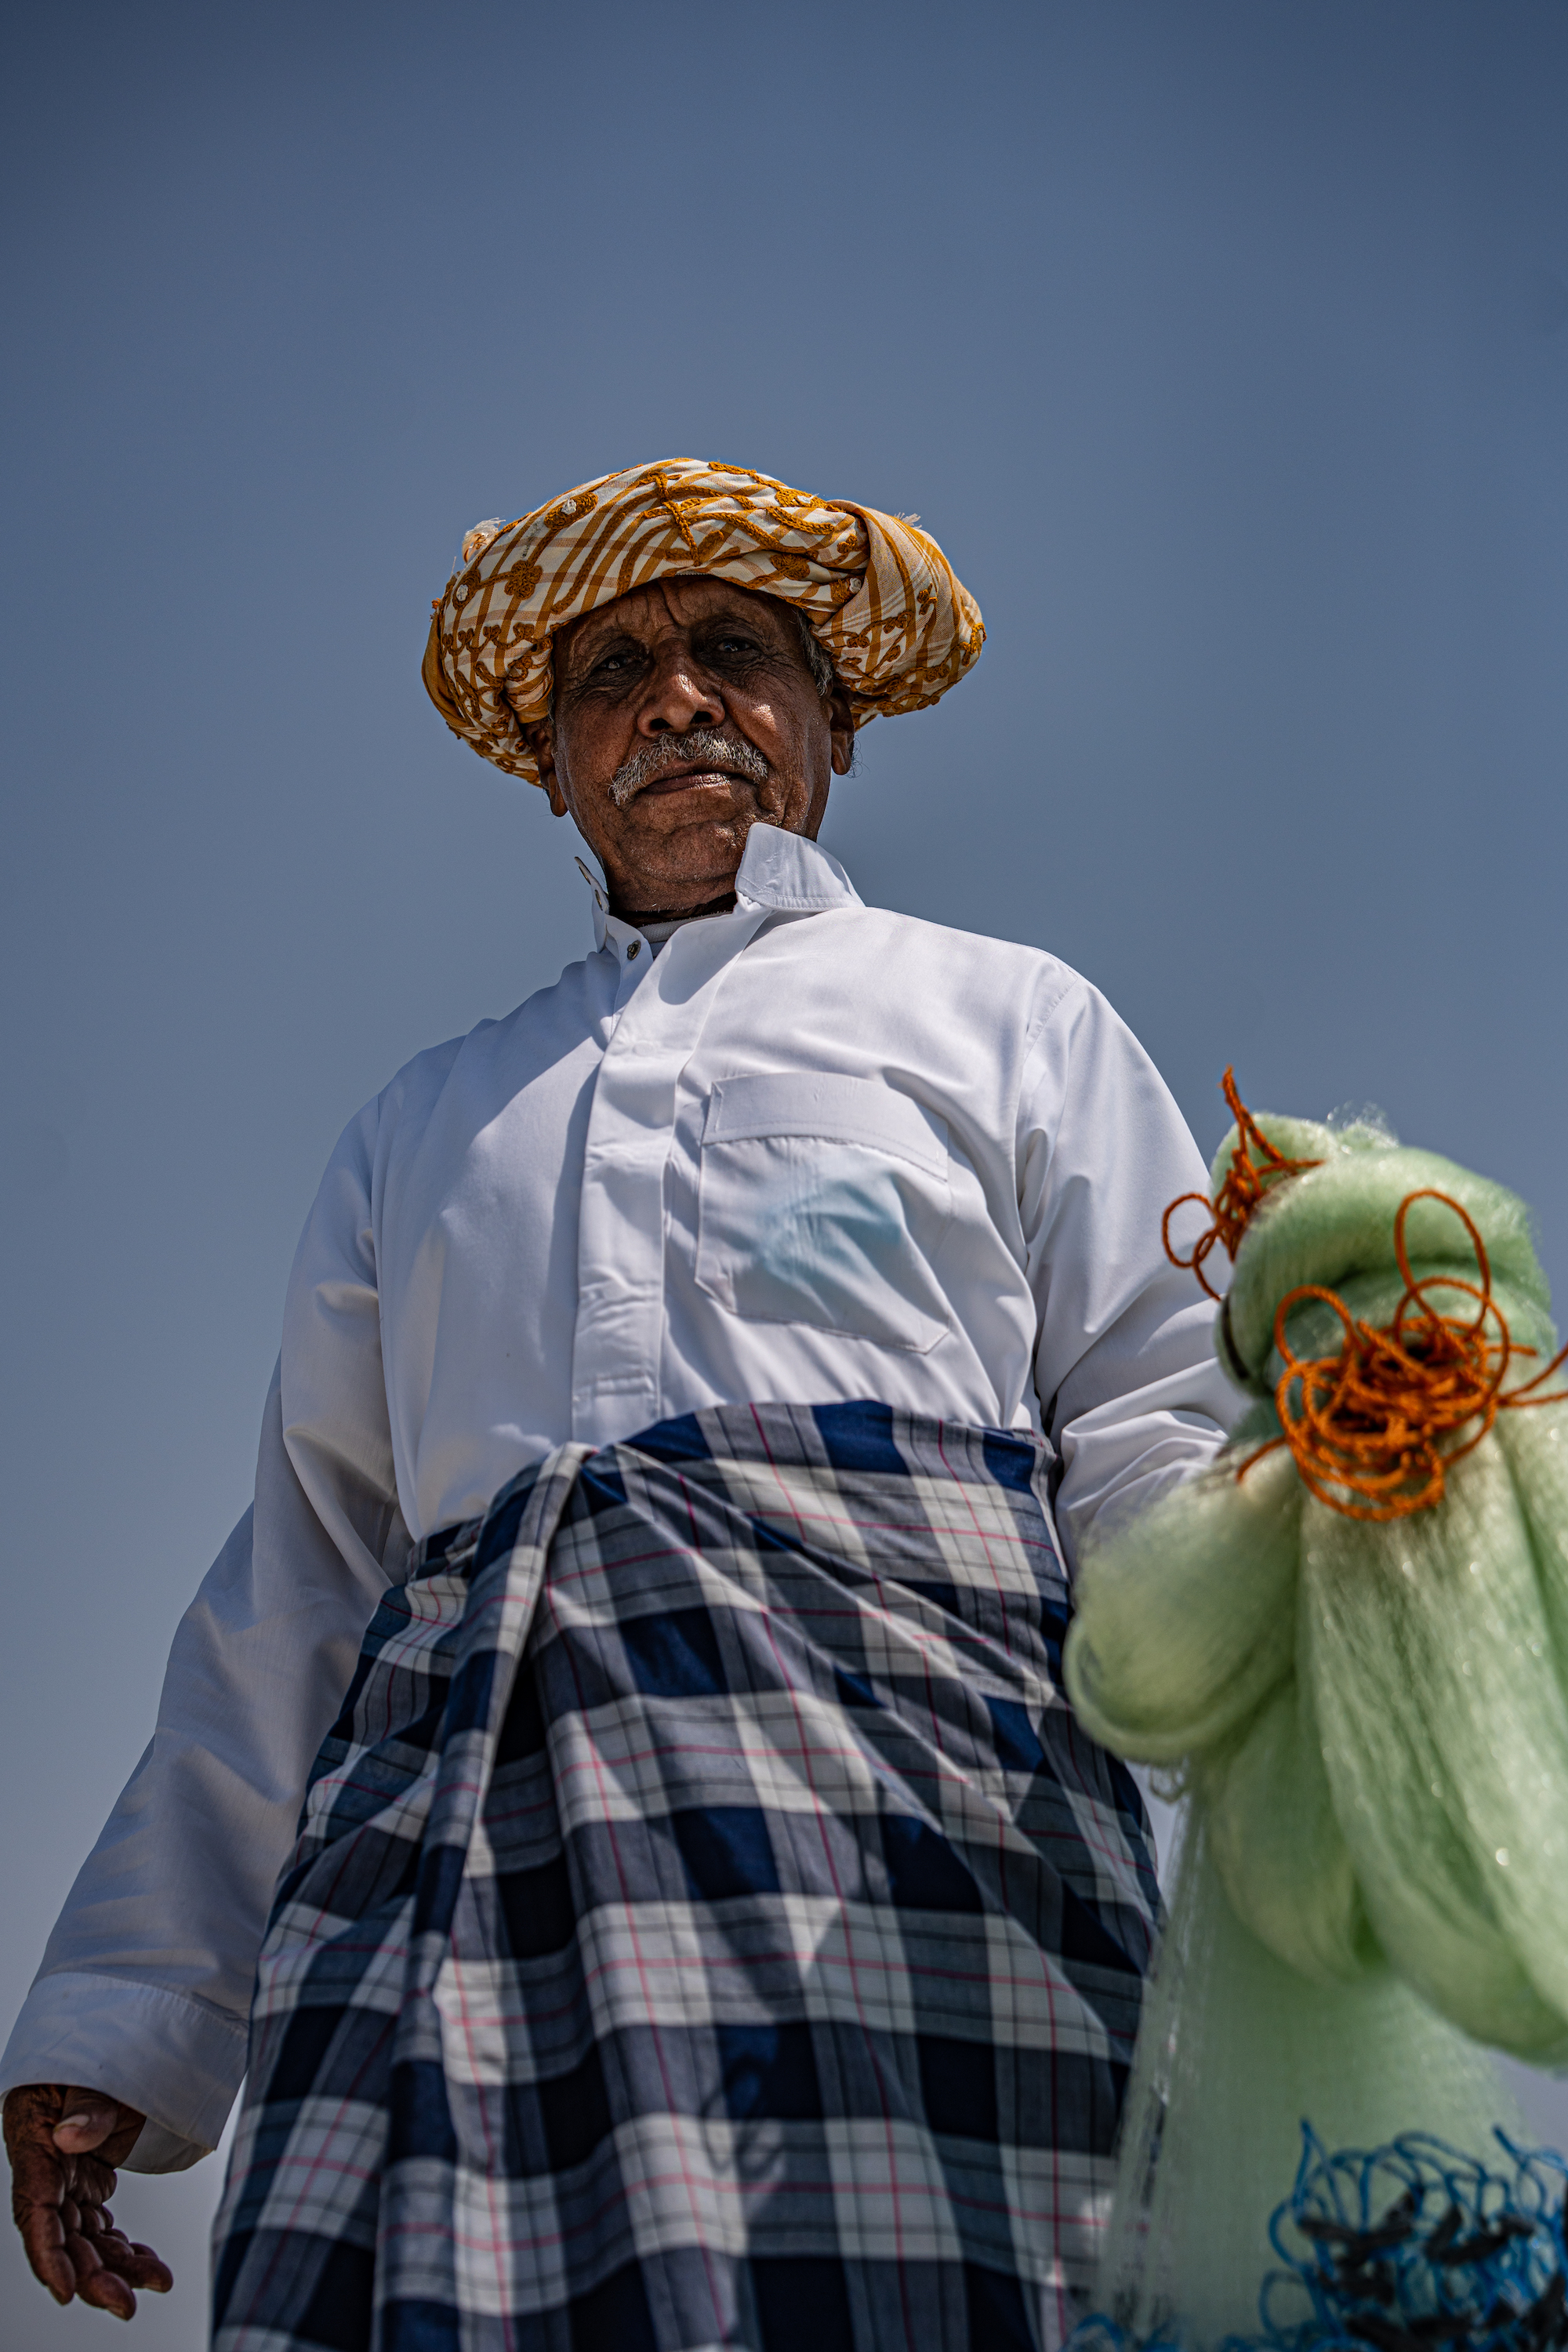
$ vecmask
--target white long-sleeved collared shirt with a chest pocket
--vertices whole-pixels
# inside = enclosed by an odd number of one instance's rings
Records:
[[[1234,1411],[1161,1211],[1206,1183],[1110,1004],[1032,948],[865,908],[757,826],[729,915],[595,953],[418,1054],[294,1261],[254,1510],[0,2063],[212,2147],[306,1776],[409,1543],[564,1439],[877,1397],[1056,1449],[1072,1559]]]

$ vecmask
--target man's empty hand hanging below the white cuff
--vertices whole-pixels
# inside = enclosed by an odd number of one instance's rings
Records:
[[[108,2199],[115,2164],[125,2164],[143,2114],[101,2091],[31,2082],[5,2100],[5,2150],[12,2159],[12,2213],[33,2277],[56,2303],[80,2296],[99,2312],[129,2319],[134,2288],[167,2296],[174,2274],[150,2246],[115,2230]]]

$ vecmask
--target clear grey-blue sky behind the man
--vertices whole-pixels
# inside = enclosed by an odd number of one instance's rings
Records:
[[[919,510],[990,644],[835,786],[860,894],[1067,957],[1206,1150],[1227,1061],[1378,1101],[1568,1287],[1563,0],[49,0],[2,56],[7,2020],[339,1129],[588,943],[418,684],[484,515],[672,454]],[[122,2197],[146,2352],[214,2194]],[[7,2352],[106,2328],[0,2239]]]

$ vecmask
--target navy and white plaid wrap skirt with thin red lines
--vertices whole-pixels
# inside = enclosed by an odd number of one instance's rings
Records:
[[[277,1884],[214,2352],[1053,2352],[1157,1889],[1041,1465],[724,1406],[418,1548]]]

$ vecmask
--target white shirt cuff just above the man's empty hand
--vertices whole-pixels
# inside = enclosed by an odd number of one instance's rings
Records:
[[[141,2107],[129,2173],[179,2173],[209,2154],[244,2077],[247,2030],[209,2002],[94,1969],[40,1976],[0,2058],[0,2098],[66,2082]]]

